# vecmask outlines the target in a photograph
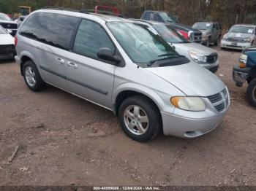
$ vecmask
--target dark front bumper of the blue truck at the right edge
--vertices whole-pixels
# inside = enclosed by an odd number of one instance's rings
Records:
[[[242,87],[246,79],[249,77],[249,71],[251,68],[240,68],[234,66],[233,68],[233,80],[236,82],[236,86]]]

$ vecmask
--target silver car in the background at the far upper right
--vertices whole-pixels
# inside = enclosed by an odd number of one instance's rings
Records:
[[[235,25],[223,36],[221,47],[244,50],[256,44],[256,26]]]

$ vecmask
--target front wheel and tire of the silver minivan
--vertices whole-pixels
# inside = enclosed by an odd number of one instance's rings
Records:
[[[129,97],[121,103],[118,119],[124,133],[129,138],[140,142],[154,139],[162,127],[161,115],[157,106],[141,95]]]

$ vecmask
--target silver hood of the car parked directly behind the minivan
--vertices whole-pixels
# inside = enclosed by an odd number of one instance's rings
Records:
[[[195,51],[198,52],[200,55],[211,55],[212,53],[215,53],[216,51],[203,46],[202,44],[198,44],[195,42],[191,42],[191,43],[177,43],[177,44],[173,44],[173,46],[176,48],[175,50],[181,54],[181,52],[188,52],[190,51]],[[182,54],[181,54],[182,55]]]

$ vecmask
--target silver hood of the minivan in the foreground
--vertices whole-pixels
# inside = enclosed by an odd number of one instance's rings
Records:
[[[224,90],[225,84],[217,76],[195,63],[178,66],[147,68],[189,96],[208,97]]]

